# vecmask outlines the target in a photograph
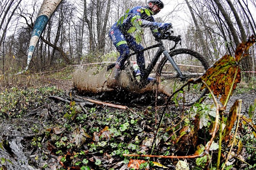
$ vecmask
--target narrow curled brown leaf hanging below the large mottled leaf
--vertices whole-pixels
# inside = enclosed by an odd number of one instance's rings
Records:
[[[231,109],[229,111],[226,126],[223,130],[222,140],[224,140],[227,136],[229,136],[229,134],[235,124],[235,120],[237,119],[238,106],[239,106],[239,100],[235,101],[235,103],[233,104],[233,106],[231,107]]]

